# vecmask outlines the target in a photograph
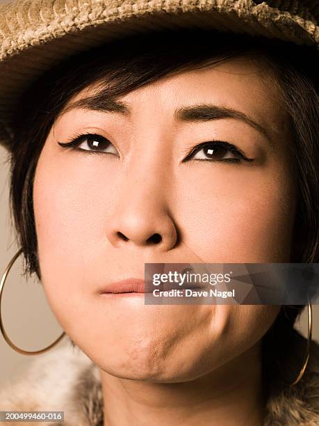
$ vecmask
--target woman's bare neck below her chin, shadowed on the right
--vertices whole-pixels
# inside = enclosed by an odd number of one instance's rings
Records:
[[[260,346],[218,370],[183,383],[122,379],[101,370],[104,426],[261,426]]]

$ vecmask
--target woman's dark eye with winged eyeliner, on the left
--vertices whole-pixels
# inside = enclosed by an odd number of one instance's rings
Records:
[[[72,148],[74,150],[97,152],[97,154],[113,154],[120,157],[115,146],[100,134],[77,134],[72,141],[58,142],[62,148]],[[82,146],[81,146],[82,145]]]

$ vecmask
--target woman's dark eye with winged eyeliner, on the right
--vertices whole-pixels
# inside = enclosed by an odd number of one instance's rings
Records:
[[[253,158],[248,158],[243,152],[240,152],[235,145],[224,141],[199,143],[183,161],[188,161],[189,159],[231,162],[254,161]]]

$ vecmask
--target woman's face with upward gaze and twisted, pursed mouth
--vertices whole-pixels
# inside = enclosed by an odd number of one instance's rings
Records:
[[[237,58],[181,72],[125,95],[122,106],[104,98],[105,111],[83,102],[51,128],[33,189],[42,284],[65,332],[105,372],[195,379],[252,348],[277,315],[278,306],[99,294],[144,278],[145,262],[289,262],[291,140],[277,89],[256,65]],[[82,150],[58,144],[88,133],[100,136],[83,138]],[[213,153],[216,141],[245,157]]]

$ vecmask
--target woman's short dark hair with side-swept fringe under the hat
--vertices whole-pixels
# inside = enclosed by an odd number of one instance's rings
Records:
[[[198,69],[238,55],[262,57],[278,85],[293,140],[291,158],[298,187],[291,262],[319,261],[319,144],[316,52],[278,40],[199,29],[156,31],[147,36],[72,56],[35,81],[13,118],[10,202],[25,274],[40,278],[33,215],[33,178],[40,152],[58,113],[72,96],[99,81],[108,97],[119,97],[182,70]],[[282,311],[291,326],[302,307]],[[284,316],[282,316],[284,315]]]

